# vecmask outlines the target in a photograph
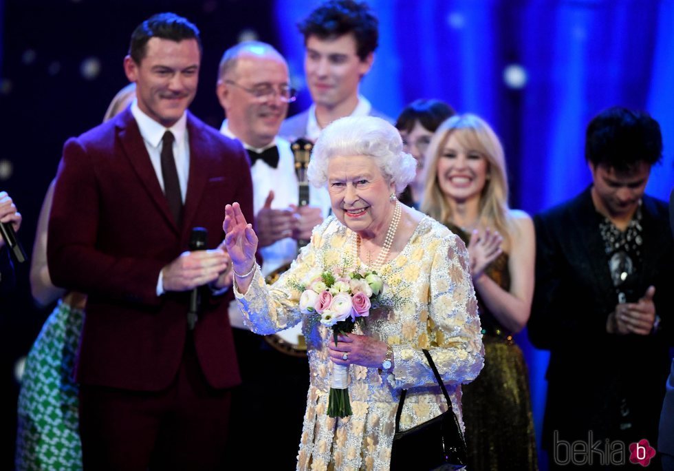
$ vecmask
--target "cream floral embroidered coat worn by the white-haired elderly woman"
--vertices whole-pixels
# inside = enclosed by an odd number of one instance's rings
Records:
[[[354,233],[331,216],[314,229],[311,244],[273,286],[267,286],[256,269],[246,295],[235,287],[243,320],[252,331],[270,334],[303,322],[311,384],[298,470],[388,470],[400,390],[411,388],[400,419],[402,430],[447,410],[422,348],[431,352],[460,423],[460,385],[475,379],[483,366],[468,252],[449,229],[425,217],[403,251],[381,270],[386,284],[382,302],[390,307],[371,311],[362,331],[358,324],[354,331],[393,346],[393,371],[351,365],[349,397],[354,414],[328,417],[331,329],[309,322],[298,301],[303,284],[320,272],[343,266],[347,273],[354,269],[354,240]],[[270,391],[270,400],[273,397]]]

